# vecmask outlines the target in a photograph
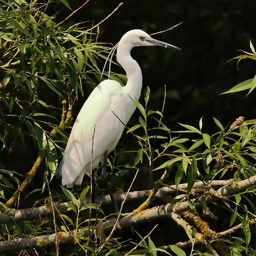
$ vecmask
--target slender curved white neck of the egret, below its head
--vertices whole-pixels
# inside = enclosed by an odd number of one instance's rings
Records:
[[[127,84],[123,90],[130,97],[139,100],[142,89],[142,72],[137,61],[131,57],[132,48],[131,45],[123,43],[121,40],[117,47],[117,61],[125,69],[127,75]]]

